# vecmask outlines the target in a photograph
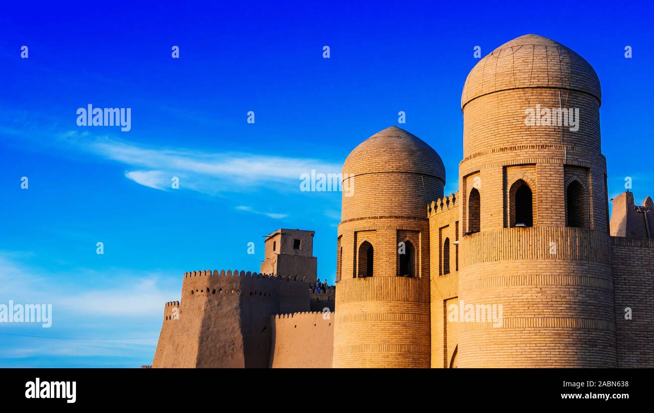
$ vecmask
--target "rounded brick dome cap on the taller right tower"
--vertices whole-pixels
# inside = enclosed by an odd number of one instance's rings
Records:
[[[552,39],[524,35],[502,44],[473,67],[461,108],[494,91],[548,87],[583,91],[602,101],[600,80],[590,63]]]

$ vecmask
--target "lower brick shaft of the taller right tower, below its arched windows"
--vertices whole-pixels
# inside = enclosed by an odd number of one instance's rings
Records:
[[[459,300],[502,305],[503,321],[460,323],[459,367],[616,367],[606,233],[506,228],[461,244]]]

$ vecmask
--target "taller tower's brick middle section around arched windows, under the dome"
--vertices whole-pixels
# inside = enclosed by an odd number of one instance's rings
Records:
[[[525,125],[527,105],[559,106],[558,91],[549,88],[498,91],[466,105],[464,159],[459,168],[464,224],[467,198],[477,177],[482,229],[507,226],[507,190],[515,180],[525,178],[535,187],[531,188],[534,225],[565,225],[566,177],[583,169],[587,174],[579,179],[588,188],[590,228],[606,230],[606,160],[599,152],[598,101],[585,93],[566,93],[570,107],[581,107],[576,132],[559,126]],[[526,165],[531,165],[532,171],[525,171]]]

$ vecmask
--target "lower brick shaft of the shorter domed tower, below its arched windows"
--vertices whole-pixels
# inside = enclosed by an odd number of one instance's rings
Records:
[[[334,367],[430,367],[429,278],[344,278]]]

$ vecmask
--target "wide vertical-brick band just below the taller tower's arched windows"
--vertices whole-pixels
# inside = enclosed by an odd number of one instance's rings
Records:
[[[611,262],[608,234],[582,228],[491,229],[463,237],[460,244],[463,267],[522,259],[590,261],[605,265]],[[551,254],[553,246],[555,254]]]

